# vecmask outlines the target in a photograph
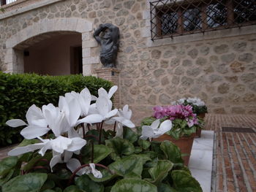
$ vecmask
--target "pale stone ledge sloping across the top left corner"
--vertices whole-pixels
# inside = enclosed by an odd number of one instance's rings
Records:
[[[0,20],[3,20],[5,18],[10,18],[14,15],[19,15],[23,12],[28,12],[30,10],[37,9],[39,7],[44,7],[48,4],[54,4],[59,1],[64,1],[64,0],[45,0],[45,1],[40,1],[40,2],[34,3],[34,4],[29,4],[29,5],[26,5],[26,7],[14,9],[14,10],[8,11],[8,12],[0,15]]]

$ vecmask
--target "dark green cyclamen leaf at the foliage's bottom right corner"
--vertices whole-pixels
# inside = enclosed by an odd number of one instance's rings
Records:
[[[182,170],[175,170],[171,173],[173,187],[181,192],[203,192],[200,184],[194,177]]]

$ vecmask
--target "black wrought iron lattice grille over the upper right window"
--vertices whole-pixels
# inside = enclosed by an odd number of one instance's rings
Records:
[[[150,12],[153,41],[256,24],[256,0],[159,0]]]

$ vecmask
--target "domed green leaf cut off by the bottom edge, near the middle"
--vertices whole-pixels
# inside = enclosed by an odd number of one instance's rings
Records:
[[[119,180],[110,192],[157,192],[157,186],[146,180],[124,179]]]

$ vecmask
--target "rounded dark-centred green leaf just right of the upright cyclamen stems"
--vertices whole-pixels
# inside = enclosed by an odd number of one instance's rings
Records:
[[[135,152],[135,147],[127,139],[121,139],[119,137],[106,140],[106,145],[112,149],[110,153],[111,158],[116,160],[121,158],[122,155],[132,155]]]

